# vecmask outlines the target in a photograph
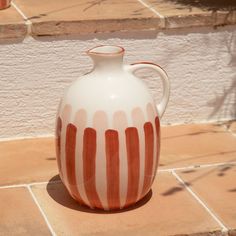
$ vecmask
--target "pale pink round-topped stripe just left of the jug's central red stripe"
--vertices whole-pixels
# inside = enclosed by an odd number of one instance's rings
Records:
[[[108,118],[104,111],[97,111],[93,117],[93,127],[97,132],[96,152],[96,190],[102,206],[108,210],[107,201],[107,173],[106,173],[106,150],[105,132],[108,128]]]

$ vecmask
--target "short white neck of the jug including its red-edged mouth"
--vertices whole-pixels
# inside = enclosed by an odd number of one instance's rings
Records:
[[[106,73],[122,69],[123,48],[117,46],[98,46],[90,49],[87,53],[93,60],[95,71]]]

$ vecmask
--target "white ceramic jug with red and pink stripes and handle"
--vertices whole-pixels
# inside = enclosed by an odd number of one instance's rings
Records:
[[[151,189],[160,153],[160,118],[169,99],[165,71],[150,62],[123,64],[124,49],[87,51],[94,66],[61,99],[56,125],[60,177],[80,204],[122,209]],[[155,70],[163,82],[156,105],[134,73]]]

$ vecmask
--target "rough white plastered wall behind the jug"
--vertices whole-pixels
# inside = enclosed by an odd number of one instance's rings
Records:
[[[91,69],[84,52],[99,44],[125,47],[126,63],[153,61],[167,71],[171,98],[162,124],[236,118],[235,26],[26,38],[0,42],[0,138],[53,135],[64,88]],[[161,83],[141,74],[158,101]]]

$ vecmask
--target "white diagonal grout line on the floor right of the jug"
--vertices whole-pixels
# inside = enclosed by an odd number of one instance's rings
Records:
[[[197,200],[197,202],[211,215],[211,217],[220,225],[222,232],[228,232],[229,229],[224,225],[224,223],[212,212],[212,210],[198,197],[196,193],[184,182],[184,180],[173,170],[172,175],[184,186],[184,188],[192,195],[192,197]]]

